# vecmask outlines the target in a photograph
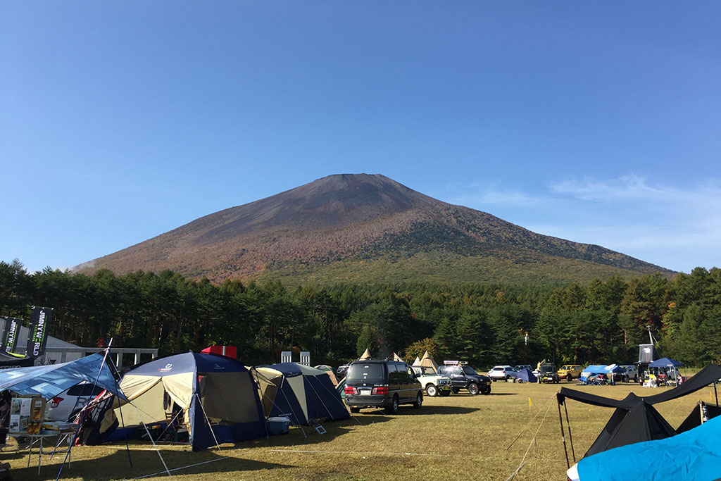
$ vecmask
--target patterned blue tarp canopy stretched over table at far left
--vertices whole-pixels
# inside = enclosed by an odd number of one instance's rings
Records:
[[[42,396],[50,400],[75,384],[83,381],[92,384],[97,379],[99,387],[124,400],[125,396],[103,359],[103,353],[95,353],[68,363],[5,369],[0,371],[0,391],[9,389],[24,396]]]

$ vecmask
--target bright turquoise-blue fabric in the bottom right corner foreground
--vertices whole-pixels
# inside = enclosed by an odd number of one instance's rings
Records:
[[[578,462],[580,481],[710,481],[721,473],[721,416],[671,438],[628,444]]]

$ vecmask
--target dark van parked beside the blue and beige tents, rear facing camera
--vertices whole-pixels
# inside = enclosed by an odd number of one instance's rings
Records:
[[[396,414],[398,406],[423,404],[423,386],[411,366],[397,361],[354,361],[345,375],[345,404],[350,412],[363,407],[384,407]]]

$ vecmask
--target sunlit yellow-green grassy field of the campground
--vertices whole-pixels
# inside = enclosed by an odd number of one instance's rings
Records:
[[[193,453],[177,445],[161,449],[169,469],[205,462],[174,471],[173,477],[181,480],[506,480],[522,462],[515,480],[565,480],[566,459],[554,397],[560,386],[617,399],[630,390],[649,395],[668,389],[496,382],[490,396],[427,397],[420,410],[402,407],[398,415],[364,410],[350,420],[325,423],[323,435],[309,428],[291,428],[283,436],[223,445],[220,450]],[[712,387],[704,388],[656,407],[676,427],[696,402],[711,402],[712,393]],[[575,401],[567,404],[578,459],[612,410]],[[131,444],[131,455],[133,467],[125,446],[75,448],[72,466],[63,470],[63,479],[112,480],[162,472],[150,444]],[[53,460],[43,456],[38,477],[37,457],[33,456],[28,468],[27,450],[9,446],[0,458],[12,465],[14,480],[54,480],[62,460],[62,456]]]

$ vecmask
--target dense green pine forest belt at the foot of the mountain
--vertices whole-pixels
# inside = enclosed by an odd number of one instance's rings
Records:
[[[663,356],[689,365],[721,361],[721,270],[607,278],[563,286],[394,283],[288,288],[279,281],[215,285],[165,270],[93,275],[28,273],[0,262],[0,316],[29,320],[54,308],[50,335],[84,346],[161,354],[236,345],[247,364],[309,350],[337,365],[366,348],[472,366],[637,361],[649,330]],[[26,322],[27,325],[27,322]],[[297,358],[297,355],[295,356]]]

